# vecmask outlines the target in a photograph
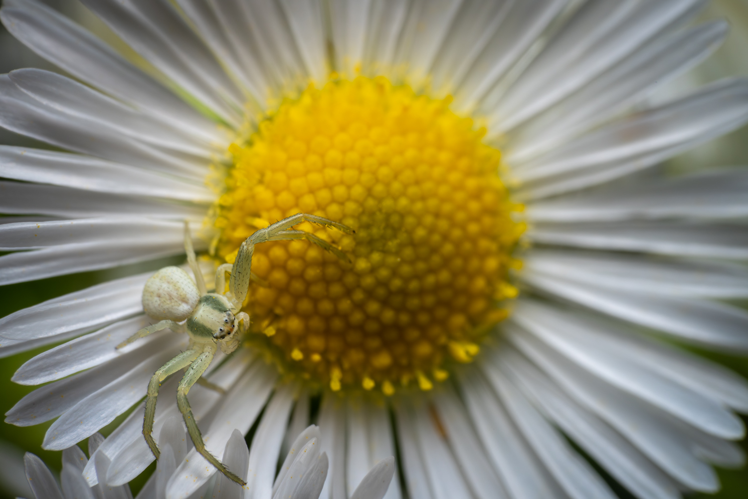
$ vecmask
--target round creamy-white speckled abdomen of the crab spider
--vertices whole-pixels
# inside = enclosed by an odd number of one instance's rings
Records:
[[[143,310],[153,319],[181,322],[192,313],[199,299],[197,285],[179,267],[164,267],[143,288]]]

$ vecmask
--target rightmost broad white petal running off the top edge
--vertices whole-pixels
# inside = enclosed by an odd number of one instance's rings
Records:
[[[632,53],[637,54],[634,58],[646,58],[646,52],[651,50],[646,44],[652,38],[693,16],[704,3],[702,0],[586,2],[501,96],[499,105],[493,109],[499,128],[491,129],[494,133],[511,129],[606,70],[620,71],[627,64],[622,59]],[[692,41],[696,45],[703,43],[698,39]],[[657,65],[664,66],[665,61],[660,55]],[[644,79],[646,71],[637,69],[637,77]],[[548,85],[551,81],[554,85]],[[646,88],[641,84],[639,87]]]

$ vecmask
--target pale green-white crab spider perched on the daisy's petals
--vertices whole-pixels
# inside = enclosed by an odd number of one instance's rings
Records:
[[[221,471],[230,480],[240,483],[242,486],[245,485],[236,474],[229,471],[206,450],[203,435],[200,434],[200,429],[197,428],[197,423],[192,415],[187,394],[195,383],[206,385],[218,391],[222,390],[220,387],[202,379],[201,376],[209,367],[218,347],[220,346],[224,353],[233,352],[239,346],[239,336],[249,328],[248,314],[234,312],[242,309],[251,278],[257,280],[251,273],[254,245],[260,242],[286,239],[307,239],[319,245],[319,247],[331,251],[337,257],[348,260],[343,251],[335,248],[329,242],[304,230],[291,229],[292,226],[304,221],[335,227],[345,233],[353,232],[346,225],[306,213],[298,213],[284,218],[269,227],[257,230],[245,242],[242,242],[234,264],[224,263],[224,265],[218,267],[215,274],[215,293],[208,293],[203,274],[197,266],[197,260],[195,260],[189,227],[185,222],[185,251],[190,269],[194,273],[194,281],[183,269],[173,266],[164,267],[146,281],[143,288],[143,309],[148,316],[159,319],[160,322],[133,334],[123,343],[117,345],[117,349],[132,343],[138,338],[166,328],[177,333],[187,333],[190,337],[188,349],[164,364],[153,374],[148,383],[143,436],[156,459],[159,459],[160,451],[151,432],[153,432],[153,419],[156,414],[156,398],[159,396],[159,387],[168,376],[187,368],[177,388],[177,406],[182,413],[192,443],[197,452],[215,466],[218,471]],[[226,289],[226,272],[230,272],[231,276],[229,290],[224,292]]]

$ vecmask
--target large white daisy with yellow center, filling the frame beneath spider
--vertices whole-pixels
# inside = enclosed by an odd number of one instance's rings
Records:
[[[0,211],[25,215],[0,225],[1,284],[182,255],[188,221],[187,281],[222,293],[216,268],[269,224],[355,230],[294,227],[334,251],[258,244],[249,329],[189,392],[245,497],[272,497],[310,423],[325,499],[389,456],[389,499],[615,497],[590,461],[679,498],[743,463],[748,384],[684,346],[748,350],[726,302],[748,296],[748,175],[657,168],[748,120],[743,79],[660,90],[726,37],[693,21],[705,1],[83,3],[137,65],[36,1],[0,10],[70,75],[0,76],[0,126],[52,146],[0,147]],[[1,355],[65,342],[13,376],[49,384],[7,422],[57,418],[43,447],[62,450],[131,411],[82,468],[91,486],[153,462],[141,399],[191,345],[163,330],[115,349],[156,322],[151,275],[0,319]],[[159,461],[165,497],[226,480],[189,440]]]

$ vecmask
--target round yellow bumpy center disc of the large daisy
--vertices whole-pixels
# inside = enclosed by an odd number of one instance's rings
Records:
[[[523,230],[483,129],[387,79],[332,80],[284,101],[244,144],[218,201],[218,256],[255,230],[307,212],[352,236],[302,224],[307,241],[257,245],[245,303],[250,341],[304,379],[341,388],[432,388],[469,362],[506,316],[501,301]],[[446,369],[445,369],[446,368]]]

